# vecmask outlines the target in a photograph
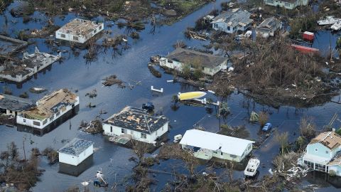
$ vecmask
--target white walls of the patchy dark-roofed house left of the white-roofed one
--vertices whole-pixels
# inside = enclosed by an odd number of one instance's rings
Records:
[[[124,129],[124,128],[123,128]],[[103,130],[105,135],[109,136],[122,136],[122,137],[128,137],[134,140],[137,140],[139,142],[146,142],[149,144],[153,144],[158,137],[161,137],[163,134],[165,134],[168,131],[168,122],[164,124],[162,127],[160,127],[156,132],[152,132],[151,134],[146,134],[146,139],[141,138],[141,132],[137,132],[130,129],[124,129],[122,133],[121,127],[113,126],[112,124],[103,124]]]

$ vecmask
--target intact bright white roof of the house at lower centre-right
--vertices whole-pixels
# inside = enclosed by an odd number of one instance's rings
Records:
[[[180,141],[180,144],[183,145],[196,146],[213,151],[220,149],[220,151],[226,154],[233,154],[237,156],[242,156],[244,151],[247,149],[247,146],[252,143],[254,142],[246,139],[204,132],[197,129],[186,131],[185,135],[183,135],[183,139]]]

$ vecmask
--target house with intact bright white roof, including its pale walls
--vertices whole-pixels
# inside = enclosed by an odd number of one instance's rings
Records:
[[[180,141],[183,149],[190,149],[199,159],[209,160],[215,157],[237,162],[242,161],[251,152],[253,143],[246,139],[197,129],[186,131]]]

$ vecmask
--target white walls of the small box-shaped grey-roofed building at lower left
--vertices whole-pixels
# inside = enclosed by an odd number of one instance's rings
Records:
[[[88,156],[94,153],[94,145],[92,144],[89,146],[85,151],[77,156],[73,156],[70,154],[64,154],[59,152],[59,162],[64,164],[69,164],[72,166],[77,166],[78,164],[82,163]]]

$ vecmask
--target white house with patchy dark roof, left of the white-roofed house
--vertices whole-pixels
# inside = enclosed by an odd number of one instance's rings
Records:
[[[168,119],[163,115],[151,116],[139,108],[125,107],[103,122],[103,129],[105,135],[155,144],[168,131]]]

